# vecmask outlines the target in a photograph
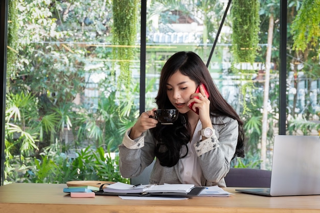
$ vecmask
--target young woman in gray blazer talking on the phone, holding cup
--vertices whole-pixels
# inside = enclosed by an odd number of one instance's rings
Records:
[[[155,101],[158,109],[177,109],[178,119],[162,125],[150,117],[156,108],[142,113],[119,146],[121,175],[136,177],[155,158],[150,183],[224,187],[230,161],[244,157],[243,122],[201,58],[193,52],[171,56],[162,68]]]

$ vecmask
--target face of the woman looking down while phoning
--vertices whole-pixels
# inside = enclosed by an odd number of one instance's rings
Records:
[[[187,113],[190,110],[187,103],[196,88],[196,82],[188,76],[182,75],[178,70],[168,79],[167,96],[171,104],[175,106],[180,113]]]

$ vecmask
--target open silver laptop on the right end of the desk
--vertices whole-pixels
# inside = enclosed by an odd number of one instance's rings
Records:
[[[320,195],[320,137],[275,136],[270,188],[236,191],[264,196]]]

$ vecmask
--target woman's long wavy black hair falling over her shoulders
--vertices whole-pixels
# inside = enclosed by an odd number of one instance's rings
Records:
[[[243,122],[237,112],[222,97],[220,91],[214,84],[207,66],[201,58],[193,52],[177,52],[172,55],[161,70],[159,80],[159,90],[155,98],[155,103],[159,109],[174,109],[167,96],[167,82],[169,78],[180,71],[182,75],[188,76],[196,84],[203,83],[208,88],[210,100],[210,113],[212,116],[225,115],[238,121],[239,135],[234,157],[244,157],[244,133]],[[158,124],[151,132],[157,140],[155,156],[161,165],[173,167],[180,158],[188,153],[187,144],[191,139],[190,127],[187,113],[179,113],[178,120],[173,125]],[[187,148],[187,153],[180,156],[182,147]]]

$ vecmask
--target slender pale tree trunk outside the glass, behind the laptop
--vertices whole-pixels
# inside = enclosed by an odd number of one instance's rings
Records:
[[[271,8],[272,11],[272,8]],[[269,83],[270,83],[270,62],[273,38],[273,13],[269,18],[267,53],[265,62],[265,81],[263,93],[263,113],[262,113],[262,137],[261,137],[261,169],[266,169],[266,153],[267,153],[267,131],[268,131],[268,100],[269,100]]]

